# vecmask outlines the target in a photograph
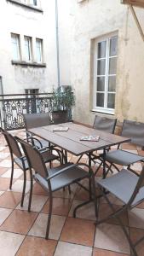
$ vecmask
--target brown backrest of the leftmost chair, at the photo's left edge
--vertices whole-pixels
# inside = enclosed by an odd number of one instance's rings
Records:
[[[8,131],[4,131],[2,128],[1,131],[3,133],[3,136],[5,137],[6,142],[8,143],[10,153],[20,158],[22,156],[22,153],[15,137],[12,136]]]

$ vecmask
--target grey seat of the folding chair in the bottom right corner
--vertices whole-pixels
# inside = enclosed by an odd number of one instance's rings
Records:
[[[134,192],[138,179],[139,177],[134,173],[123,169],[117,174],[112,175],[112,177],[101,179],[97,183],[126,204],[130,201],[130,197]],[[136,195],[133,205],[142,199],[144,199],[144,187],[142,187]]]

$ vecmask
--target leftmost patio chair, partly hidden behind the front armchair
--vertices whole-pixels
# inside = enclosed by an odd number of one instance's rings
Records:
[[[26,156],[21,151],[20,145],[16,139],[16,137],[13,137],[8,131],[4,131],[1,128],[1,131],[3,133],[3,136],[8,143],[9,146],[9,152],[11,156],[11,177],[10,177],[10,184],[9,189],[12,189],[12,183],[13,183],[13,175],[14,175],[14,163],[20,167],[20,169],[23,171],[24,174],[24,183],[23,183],[23,189],[22,189],[22,196],[21,196],[21,203],[20,206],[23,207],[24,202],[24,196],[25,196],[25,190],[26,190],[26,171],[29,169],[28,162],[26,160]],[[51,154],[50,150],[40,149],[39,153],[42,154],[43,161],[45,163],[49,163],[51,166],[51,161],[58,160],[61,156],[60,153],[58,155]]]

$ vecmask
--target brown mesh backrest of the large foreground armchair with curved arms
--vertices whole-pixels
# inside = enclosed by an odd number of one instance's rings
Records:
[[[28,160],[29,166],[42,177],[48,177],[48,172],[43,161],[42,154],[40,154],[37,148],[33,148],[31,144],[26,143],[26,141],[20,139],[19,137],[17,137],[17,140],[21,144],[21,147],[26,154],[26,159]]]

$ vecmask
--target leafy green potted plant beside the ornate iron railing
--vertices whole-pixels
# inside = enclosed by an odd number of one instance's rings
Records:
[[[60,86],[53,90],[53,113],[55,123],[72,120],[72,106],[75,104],[75,96],[71,86]],[[57,120],[57,121],[56,121]]]

